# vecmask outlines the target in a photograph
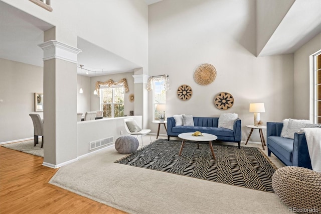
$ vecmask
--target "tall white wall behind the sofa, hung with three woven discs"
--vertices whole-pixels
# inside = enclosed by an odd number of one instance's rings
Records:
[[[165,0],[149,6],[149,75],[169,74],[167,117],[237,113],[246,140],[250,130],[245,125],[253,124],[249,103],[265,103],[264,124],[293,116],[293,54],[255,57],[255,18],[255,1]],[[215,81],[205,86],[193,79],[203,63],[217,70]],[[182,84],[192,87],[188,101],[177,96]],[[213,101],[223,91],[235,100],[227,111],[218,110]],[[156,128],[152,126],[152,132]],[[251,141],[260,142],[258,132],[252,136]]]

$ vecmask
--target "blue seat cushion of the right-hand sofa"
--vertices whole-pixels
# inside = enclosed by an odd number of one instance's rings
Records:
[[[293,139],[283,138],[279,136],[269,136],[268,141],[268,147],[273,147],[284,158],[292,162]]]

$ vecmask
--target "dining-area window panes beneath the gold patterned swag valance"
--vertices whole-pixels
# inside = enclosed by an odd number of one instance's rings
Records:
[[[100,110],[105,118],[124,116],[124,88],[117,86],[100,86]]]

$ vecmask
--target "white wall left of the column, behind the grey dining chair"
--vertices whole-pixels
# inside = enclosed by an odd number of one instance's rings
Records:
[[[43,68],[0,59],[0,76],[0,143],[33,138],[29,114],[35,113],[34,93],[43,93]]]

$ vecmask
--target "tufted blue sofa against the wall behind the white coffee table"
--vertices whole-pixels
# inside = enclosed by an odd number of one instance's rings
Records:
[[[178,137],[181,133],[196,132],[209,133],[217,136],[220,141],[237,142],[241,148],[241,120],[234,122],[233,130],[226,128],[218,128],[219,118],[202,118],[193,117],[194,126],[175,126],[174,117],[167,119],[167,135],[170,137]]]

